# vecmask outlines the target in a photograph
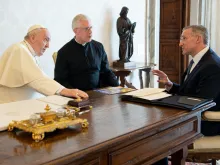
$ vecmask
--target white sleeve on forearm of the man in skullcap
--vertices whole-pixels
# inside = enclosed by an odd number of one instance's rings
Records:
[[[46,76],[34,80],[27,85],[46,96],[57,94],[58,91],[64,88],[58,82]]]

